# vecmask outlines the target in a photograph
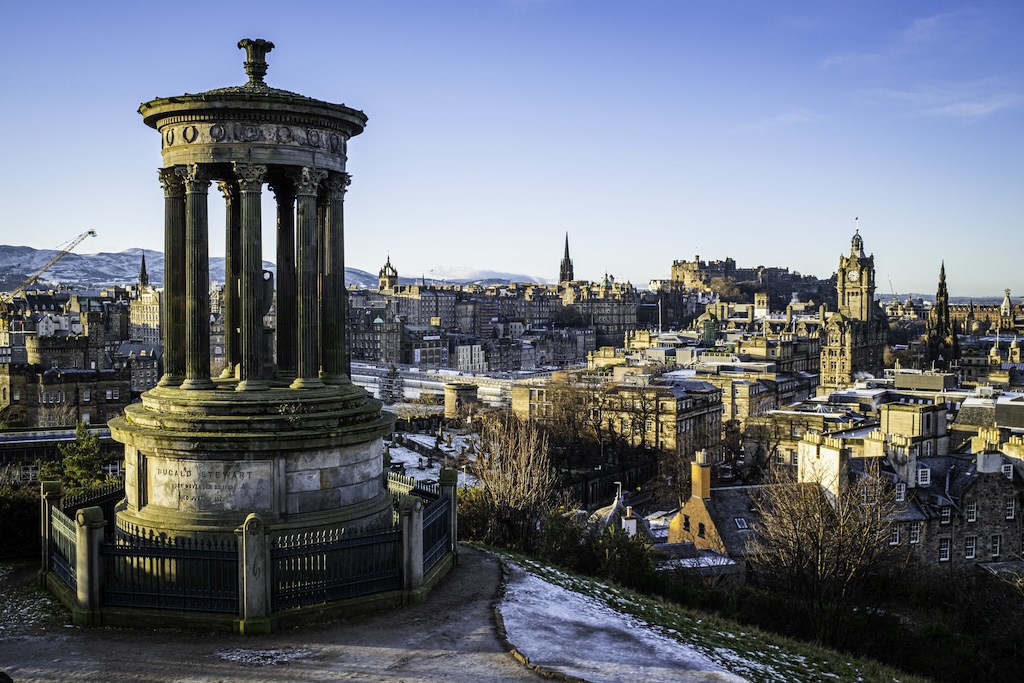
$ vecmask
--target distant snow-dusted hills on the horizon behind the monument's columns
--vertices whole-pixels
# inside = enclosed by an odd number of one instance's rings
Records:
[[[57,253],[53,249],[0,245],[0,291],[13,290],[46,265],[46,262]],[[164,255],[156,251],[143,252],[141,249],[126,249],[117,253],[68,254],[47,269],[37,281],[37,285],[42,288],[59,284],[84,290],[101,289],[114,285],[131,285],[138,281],[143,253],[145,254],[145,269],[150,274],[150,283],[157,287],[163,286]],[[276,266],[270,261],[263,261],[263,267],[271,272],[276,272]],[[537,279],[527,275],[490,270],[461,269],[445,271],[443,275],[434,272],[432,275],[425,279],[401,278],[399,282],[409,285],[426,280],[428,284],[473,283],[484,286],[510,282],[538,282]],[[223,257],[210,259],[210,282],[224,282]],[[376,288],[377,275],[358,268],[345,268],[345,283],[349,286]]]

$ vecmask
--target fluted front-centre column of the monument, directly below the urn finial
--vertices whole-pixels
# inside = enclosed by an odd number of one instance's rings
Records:
[[[242,334],[239,391],[269,388],[263,379],[263,219],[260,196],[266,166],[234,162],[242,198]]]

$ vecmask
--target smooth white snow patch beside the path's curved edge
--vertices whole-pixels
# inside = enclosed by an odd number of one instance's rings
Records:
[[[590,683],[745,681],[698,649],[598,600],[510,564],[499,609],[510,643],[530,664]]]

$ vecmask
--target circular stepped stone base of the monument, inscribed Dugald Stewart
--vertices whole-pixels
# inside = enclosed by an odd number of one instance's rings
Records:
[[[236,391],[158,387],[111,421],[125,444],[123,530],[233,535],[389,525],[383,438],[393,417],[351,384]]]

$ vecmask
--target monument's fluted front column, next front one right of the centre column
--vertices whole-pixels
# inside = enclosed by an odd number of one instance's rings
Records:
[[[317,339],[317,267],[316,248],[316,187],[327,177],[327,171],[303,168],[295,176],[298,295],[298,367],[293,389],[315,389],[324,386],[319,378],[319,341]]]

